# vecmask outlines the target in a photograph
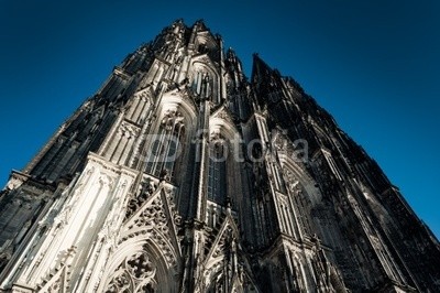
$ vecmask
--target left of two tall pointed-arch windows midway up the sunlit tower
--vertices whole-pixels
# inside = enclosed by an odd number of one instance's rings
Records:
[[[161,121],[158,133],[150,137],[145,172],[170,178],[185,138],[184,117],[178,111],[168,111]]]

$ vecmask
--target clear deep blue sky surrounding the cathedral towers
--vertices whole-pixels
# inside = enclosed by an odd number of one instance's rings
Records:
[[[173,20],[293,76],[440,236],[439,1],[0,0],[0,184]]]

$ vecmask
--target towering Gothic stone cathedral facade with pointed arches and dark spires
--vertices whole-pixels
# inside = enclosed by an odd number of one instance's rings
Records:
[[[290,77],[180,20],[0,195],[0,292],[439,292],[440,246]]]

